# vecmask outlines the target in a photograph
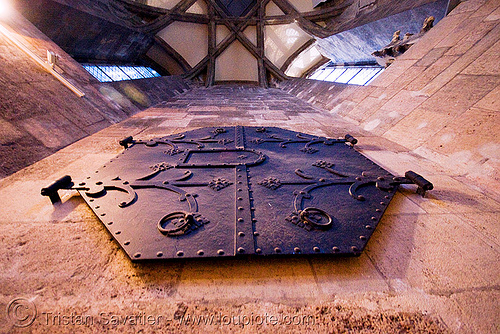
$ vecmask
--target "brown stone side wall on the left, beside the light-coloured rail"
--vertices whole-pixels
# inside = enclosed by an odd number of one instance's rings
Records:
[[[178,77],[100,84],[22,16],[0,23],[40,58],[58,54],[56,70],[86,94],[75,95],[0,34],[0,178],[189,88]]]

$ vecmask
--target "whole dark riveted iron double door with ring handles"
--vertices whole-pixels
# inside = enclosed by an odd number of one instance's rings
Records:
[[[132,260],[283,254],[359,255],[401,183],[357,140],[279,128],[202,128],[125,150],[76,189]]]

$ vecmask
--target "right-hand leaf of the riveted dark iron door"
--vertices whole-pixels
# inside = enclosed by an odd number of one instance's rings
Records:
[[[288,143],[297,136],[283,130],[276,137],[286,141],[249,141],[250,148],[260,147],[268,156],[252,177],[258,185],[253,196],[262,201],[255,205],[257,253],[359,254],[394,194],[376,188],[374,181],[393,175],[342,141]],[[356,183],[362,185],[357,191]],[[304,210],[324,223],[307,224]]]

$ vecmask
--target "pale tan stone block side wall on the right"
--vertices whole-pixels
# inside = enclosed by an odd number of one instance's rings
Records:
[[[369,86],[281,88],[500,198],[500,3],[465,1]]]

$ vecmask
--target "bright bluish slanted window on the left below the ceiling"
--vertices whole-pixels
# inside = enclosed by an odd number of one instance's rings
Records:
[[[100,82],[147,79],[161,75],[147,66],[82,64]]]

